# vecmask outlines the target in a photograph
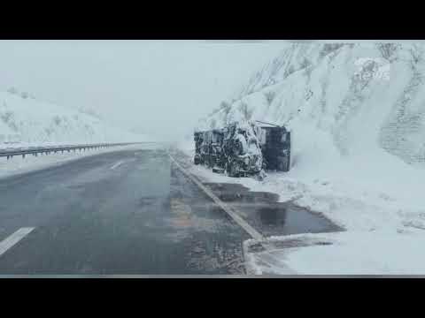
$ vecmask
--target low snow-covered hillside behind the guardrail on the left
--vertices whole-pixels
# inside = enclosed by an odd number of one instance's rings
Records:
[[[72,144],[143,141],[146,137],[106,125],[87,112],[0,92],[0,147],[19,144]]]

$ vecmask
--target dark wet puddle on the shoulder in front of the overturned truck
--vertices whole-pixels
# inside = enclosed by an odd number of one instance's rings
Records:
[[[251,192],[238,184],[205,183],[265,236],[343,231],[328,218],[292,202],[278,202],[279,195]]]

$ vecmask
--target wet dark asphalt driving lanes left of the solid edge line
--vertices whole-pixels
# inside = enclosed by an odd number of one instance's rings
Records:
[[[93,155],[0,179],[0,275],[243,274],[248,235],[163,149]]]

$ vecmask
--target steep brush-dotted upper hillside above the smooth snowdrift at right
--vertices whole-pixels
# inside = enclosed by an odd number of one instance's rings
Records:
[[[308,126],[308,133],[326,133],[340,155],[377,146],[425,166],[424,49],[292,44],[201,125],[254,118],[289,125],[296,136]],[[305,137],[316,142],[313,135]]]

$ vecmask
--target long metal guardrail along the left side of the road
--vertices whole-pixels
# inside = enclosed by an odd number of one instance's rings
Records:
[[[99,144],[87,144],[87,145],[66,145],[66,146],[53,146],[53,147],[30,147],[30,148],[15,148],[11,150],[0,150],[0,157],[6,157],[7,160],[12,158],[14,155],[22,155],[22,158],[25,158],[26,155],[39,155],[46,154],[50,155],[50,153],[57,154],[58,152],[75,152],[77,150],[86,149],[100,149],[100,148],[111,148],[117,146],[129,146],[136,144],[144,144],[151,142],[121,142],[121,143],[99,143]]]

